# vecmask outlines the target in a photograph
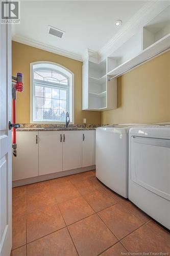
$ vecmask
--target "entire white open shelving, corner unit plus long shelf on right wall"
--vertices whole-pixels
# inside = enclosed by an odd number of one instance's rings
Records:
[[[155,54],[170,47],[170,6],[123,45],[99,62],[88,56],[83,62],[83,110],[104,111],[117,108],[116,78]],[[95,61],[95,62],[94,62]]]

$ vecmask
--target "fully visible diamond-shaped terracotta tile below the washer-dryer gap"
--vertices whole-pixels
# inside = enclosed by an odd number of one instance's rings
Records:
[[[98,215],[118,239],[122,239],[143,224],[121,204],[102,210],[98,212]]]

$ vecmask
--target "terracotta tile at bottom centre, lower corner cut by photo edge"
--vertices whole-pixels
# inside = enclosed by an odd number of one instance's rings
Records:
[[[68,226],[79,255],[98,255],[117,242],[117,239],[97,215]]]

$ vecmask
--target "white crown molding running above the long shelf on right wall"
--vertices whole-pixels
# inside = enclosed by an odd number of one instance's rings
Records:
[[[130,37],[147,25],[158,13],[169,5],[169,1],[149,1],[102,47],[98,54],[101,60],[124,44]]]

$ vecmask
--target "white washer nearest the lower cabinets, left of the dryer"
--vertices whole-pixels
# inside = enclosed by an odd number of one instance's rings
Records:
[[[117,194],[128,197],[128,132],[136,124],[96,129],[96,177]]]

